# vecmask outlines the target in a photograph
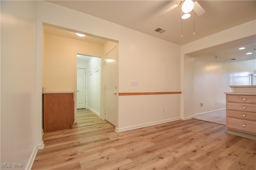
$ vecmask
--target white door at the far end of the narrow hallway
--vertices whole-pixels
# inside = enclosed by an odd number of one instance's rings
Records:
[[[76,70],[76,109],[86,108],[86,69],[77,68]]]

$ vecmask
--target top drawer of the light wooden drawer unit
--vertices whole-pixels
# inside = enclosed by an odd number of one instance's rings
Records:
[[[226,95],[227,102],[256,103],[255,95]]]

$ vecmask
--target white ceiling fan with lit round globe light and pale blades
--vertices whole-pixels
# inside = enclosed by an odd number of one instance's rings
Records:
[[[200,6],[200,4],[196,0],[182,0],[182,1],[174,4],[167,10],[163,11],[162,13],[158,14],[158,16],[161,17],[161,16],[167,14],[168,12],[170,12],[174,8],[180,6],[181,4],[182,4],[182,12],[184,12],[185,14],[188,14],[193,9],[194,9],[194,12],[196,12],[196,14],[198,16],[201,16],[202,14],[205,13],[205,10],[202,8],[202,6]],[[186,18],[183,18],[183,19],[186,19]]]

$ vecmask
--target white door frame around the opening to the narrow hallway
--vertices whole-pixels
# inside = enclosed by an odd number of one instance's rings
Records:
[[[100,56],[93,56],[93,55],[88,55],[88,54],[85,54],[85,53],[80,53],[80,52],[74,52],[74,123],[77,123],[77,94],[76,94],[76,90],[77,90],[77,55],[80,54],[80,55],[87,55],[87,56],[90,56],[90,57],[98,57],[101,59],[101,78],[100,78],[100,82],[101,82],[101,88],[100,88],[100,105],[101,105],[101,108],[100,108],[100,117],[102,118],[102,111],[104,110],[103,106],[102,106],[102,103],[104,103],[104,80],[103,80],[103,75],[104,75],[104,68],[102,64],[104,64],[104,57],[100,57]],[[87,88],[86,88],[86,91],[87,91]]]

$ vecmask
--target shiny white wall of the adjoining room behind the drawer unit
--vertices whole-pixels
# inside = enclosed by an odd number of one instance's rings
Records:
[[[194,58],[194,114],[226,108],[230,85],[249,85],[250,69],[212,55]],[[203,103],[203,106],[200,104]]]

